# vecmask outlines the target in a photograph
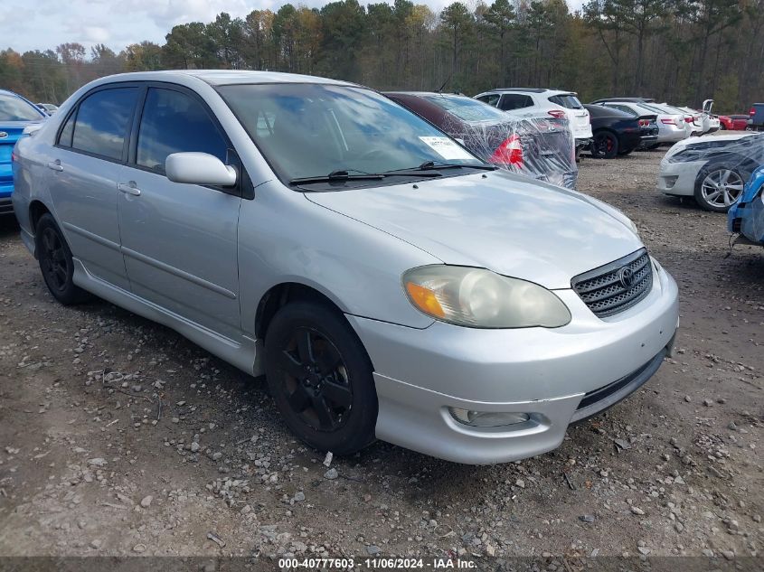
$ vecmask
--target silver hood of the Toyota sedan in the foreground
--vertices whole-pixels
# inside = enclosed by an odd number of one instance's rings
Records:
[[[505,171],[305,196],[446,264],[552,289],[642,248],[628,219],[604,202]]]

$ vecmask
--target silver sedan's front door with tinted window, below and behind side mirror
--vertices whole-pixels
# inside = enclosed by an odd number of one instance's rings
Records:
[[[119,226],[135,295],[222,335],[241,332],[236,189],[173,183],[167,155],[235,157],[203,100],[187,89],[148,87],[119,178]]]

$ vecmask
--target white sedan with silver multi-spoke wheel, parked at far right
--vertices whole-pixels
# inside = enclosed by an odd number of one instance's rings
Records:
[[[657,189],[669,196],[694,197],[706,211],[726,212],[760,164],[764,134],[690,137],[665,154]]]

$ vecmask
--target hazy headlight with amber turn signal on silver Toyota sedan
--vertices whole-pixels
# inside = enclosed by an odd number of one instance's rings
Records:
[[[571,321],[560,298],[546,288],[484,268],[432,265],[403,275],[412,305],[449,324],[473,328],[557,328]]]

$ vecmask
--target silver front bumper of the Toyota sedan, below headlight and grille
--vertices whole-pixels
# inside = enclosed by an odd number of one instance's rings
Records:
[[[436,322],[417,330],[348,316],[374,365],[376,435],[465,464],[505,463],[556,448],[571,422],[627,397],[670,351],[678,291],[662,268],[655,278],[644,300],[606,319],[572,290],[556,291],[572,314],[571,324],[556,329],[477,330]],[[471,427],[448,408],[529,418]]]

